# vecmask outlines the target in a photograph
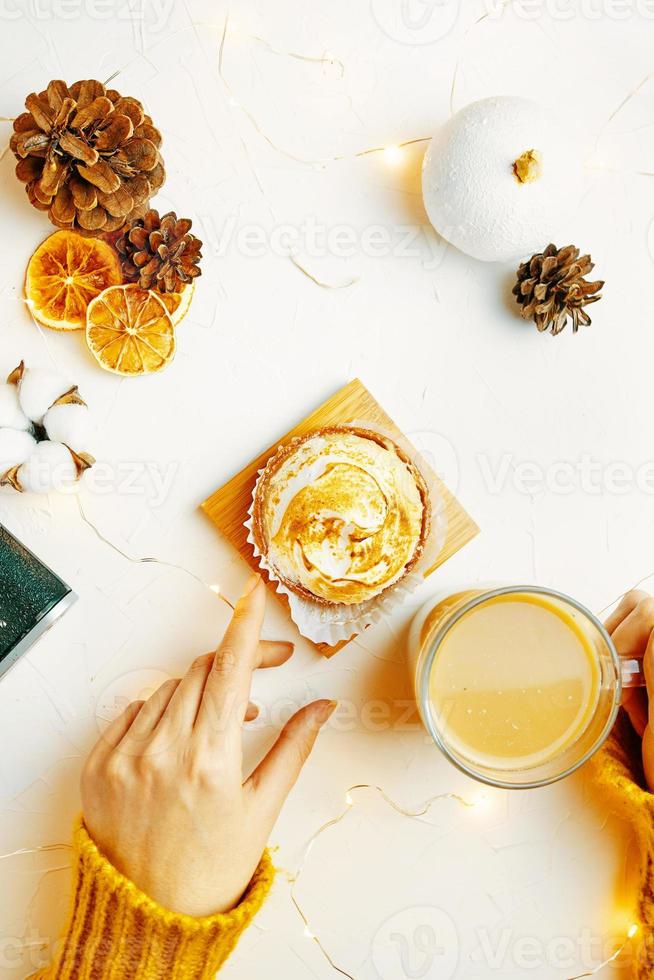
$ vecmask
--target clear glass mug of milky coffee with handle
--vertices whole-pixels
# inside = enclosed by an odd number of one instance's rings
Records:
[[[644,684],[596,616],[539,586],[430,600],[409,634],[422,721],[467,775],[505,789],[570,775],[604,743],[623,687]]]

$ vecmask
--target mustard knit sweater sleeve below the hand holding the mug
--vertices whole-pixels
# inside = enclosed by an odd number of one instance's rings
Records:
[[[634,829],[640,852],[637,921],[631,977],[654,977],[654,795],[646,789],[642,746],[624,712],[590,765],[612,810]]]

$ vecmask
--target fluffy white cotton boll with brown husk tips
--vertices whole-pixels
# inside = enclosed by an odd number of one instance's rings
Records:
[[[89,430],[77,387],[21,361],[0,385],[0,486],[49,493],[76,483],[95,462],[77,451]]]

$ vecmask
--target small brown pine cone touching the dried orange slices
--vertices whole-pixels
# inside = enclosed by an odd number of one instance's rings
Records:
[[[191,220],[174,211],[159,217],[152,209],[134,221],[116,242],[126,281],[160,293],[181,292],[201,274],[202,242],[190,229]]]

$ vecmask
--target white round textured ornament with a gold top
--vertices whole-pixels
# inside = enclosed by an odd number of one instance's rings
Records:
[[[542,251],[579,192],[569,128],[528,99],[495,96],[457,112],[433,137],[422,170],[429,220],[485,262]]]

